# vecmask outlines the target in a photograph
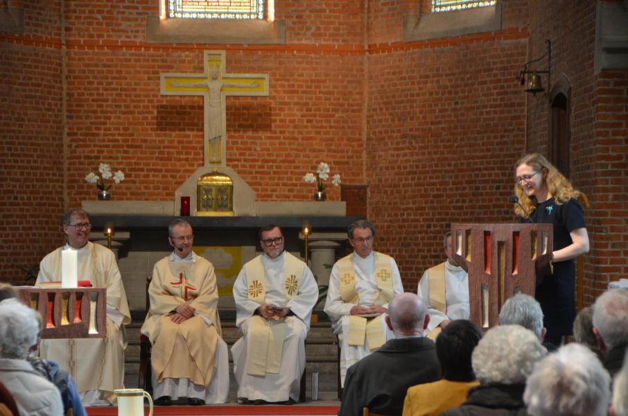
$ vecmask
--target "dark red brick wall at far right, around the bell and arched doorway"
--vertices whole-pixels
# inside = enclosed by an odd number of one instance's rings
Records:
[[[595,1],[531,1],[530,55],[537,58],[552,40],[552,85],[571,87],[570,180],[591,200],[584,219],[591,250],[584,256],[584,304],[611,280],[628,275],[628,83],[626,71],[596,74]],[[547,85],[547,78],[544,78]],[[547,96],[529,96],[528,150],[547,154]]]

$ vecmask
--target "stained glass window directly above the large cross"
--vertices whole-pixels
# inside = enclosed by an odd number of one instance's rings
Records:
[[[174,19],[264,19],[265,0],[168,0]]]

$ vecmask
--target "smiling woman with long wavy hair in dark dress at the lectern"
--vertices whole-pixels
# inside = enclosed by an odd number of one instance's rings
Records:
[[[548,160],[532,153],[516,165],[514,191],[521,206],[515,214],[532,223],[549,223],[554,228],[553,273],[542,277],[536,297],[543,309],[546,341],[560,345],[561,337],[572,334],[575,319],[575,262],[588,252],[588,234],[578,200],[588,200]]]

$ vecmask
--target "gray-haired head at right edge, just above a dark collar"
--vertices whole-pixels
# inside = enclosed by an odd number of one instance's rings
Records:
[[[604,347],[611,349],[628,343],[628,291],[609,289],[593,304],[593,327]]]

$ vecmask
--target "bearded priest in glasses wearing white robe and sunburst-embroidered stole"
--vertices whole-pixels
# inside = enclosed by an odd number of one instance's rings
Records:
[[[305,338],[318,286],[308,266],[284,251],[281,228],[259,232],[264,253],[246,263],[234,283],[236,326],[232,347],[238,400],[289,404],[299,400]]]

